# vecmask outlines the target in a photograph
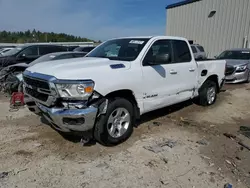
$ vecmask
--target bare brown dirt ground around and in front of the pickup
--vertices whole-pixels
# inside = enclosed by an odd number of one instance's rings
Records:
[[[146,114],[110,148],[83,147],[25,108],[10,112],[8,100],[0,98],[1,188],[250,187],[250,151],[238,144],[250,146],[239,132],[250,127],[250,85],[226,86],[208,108],[187,102]]]

